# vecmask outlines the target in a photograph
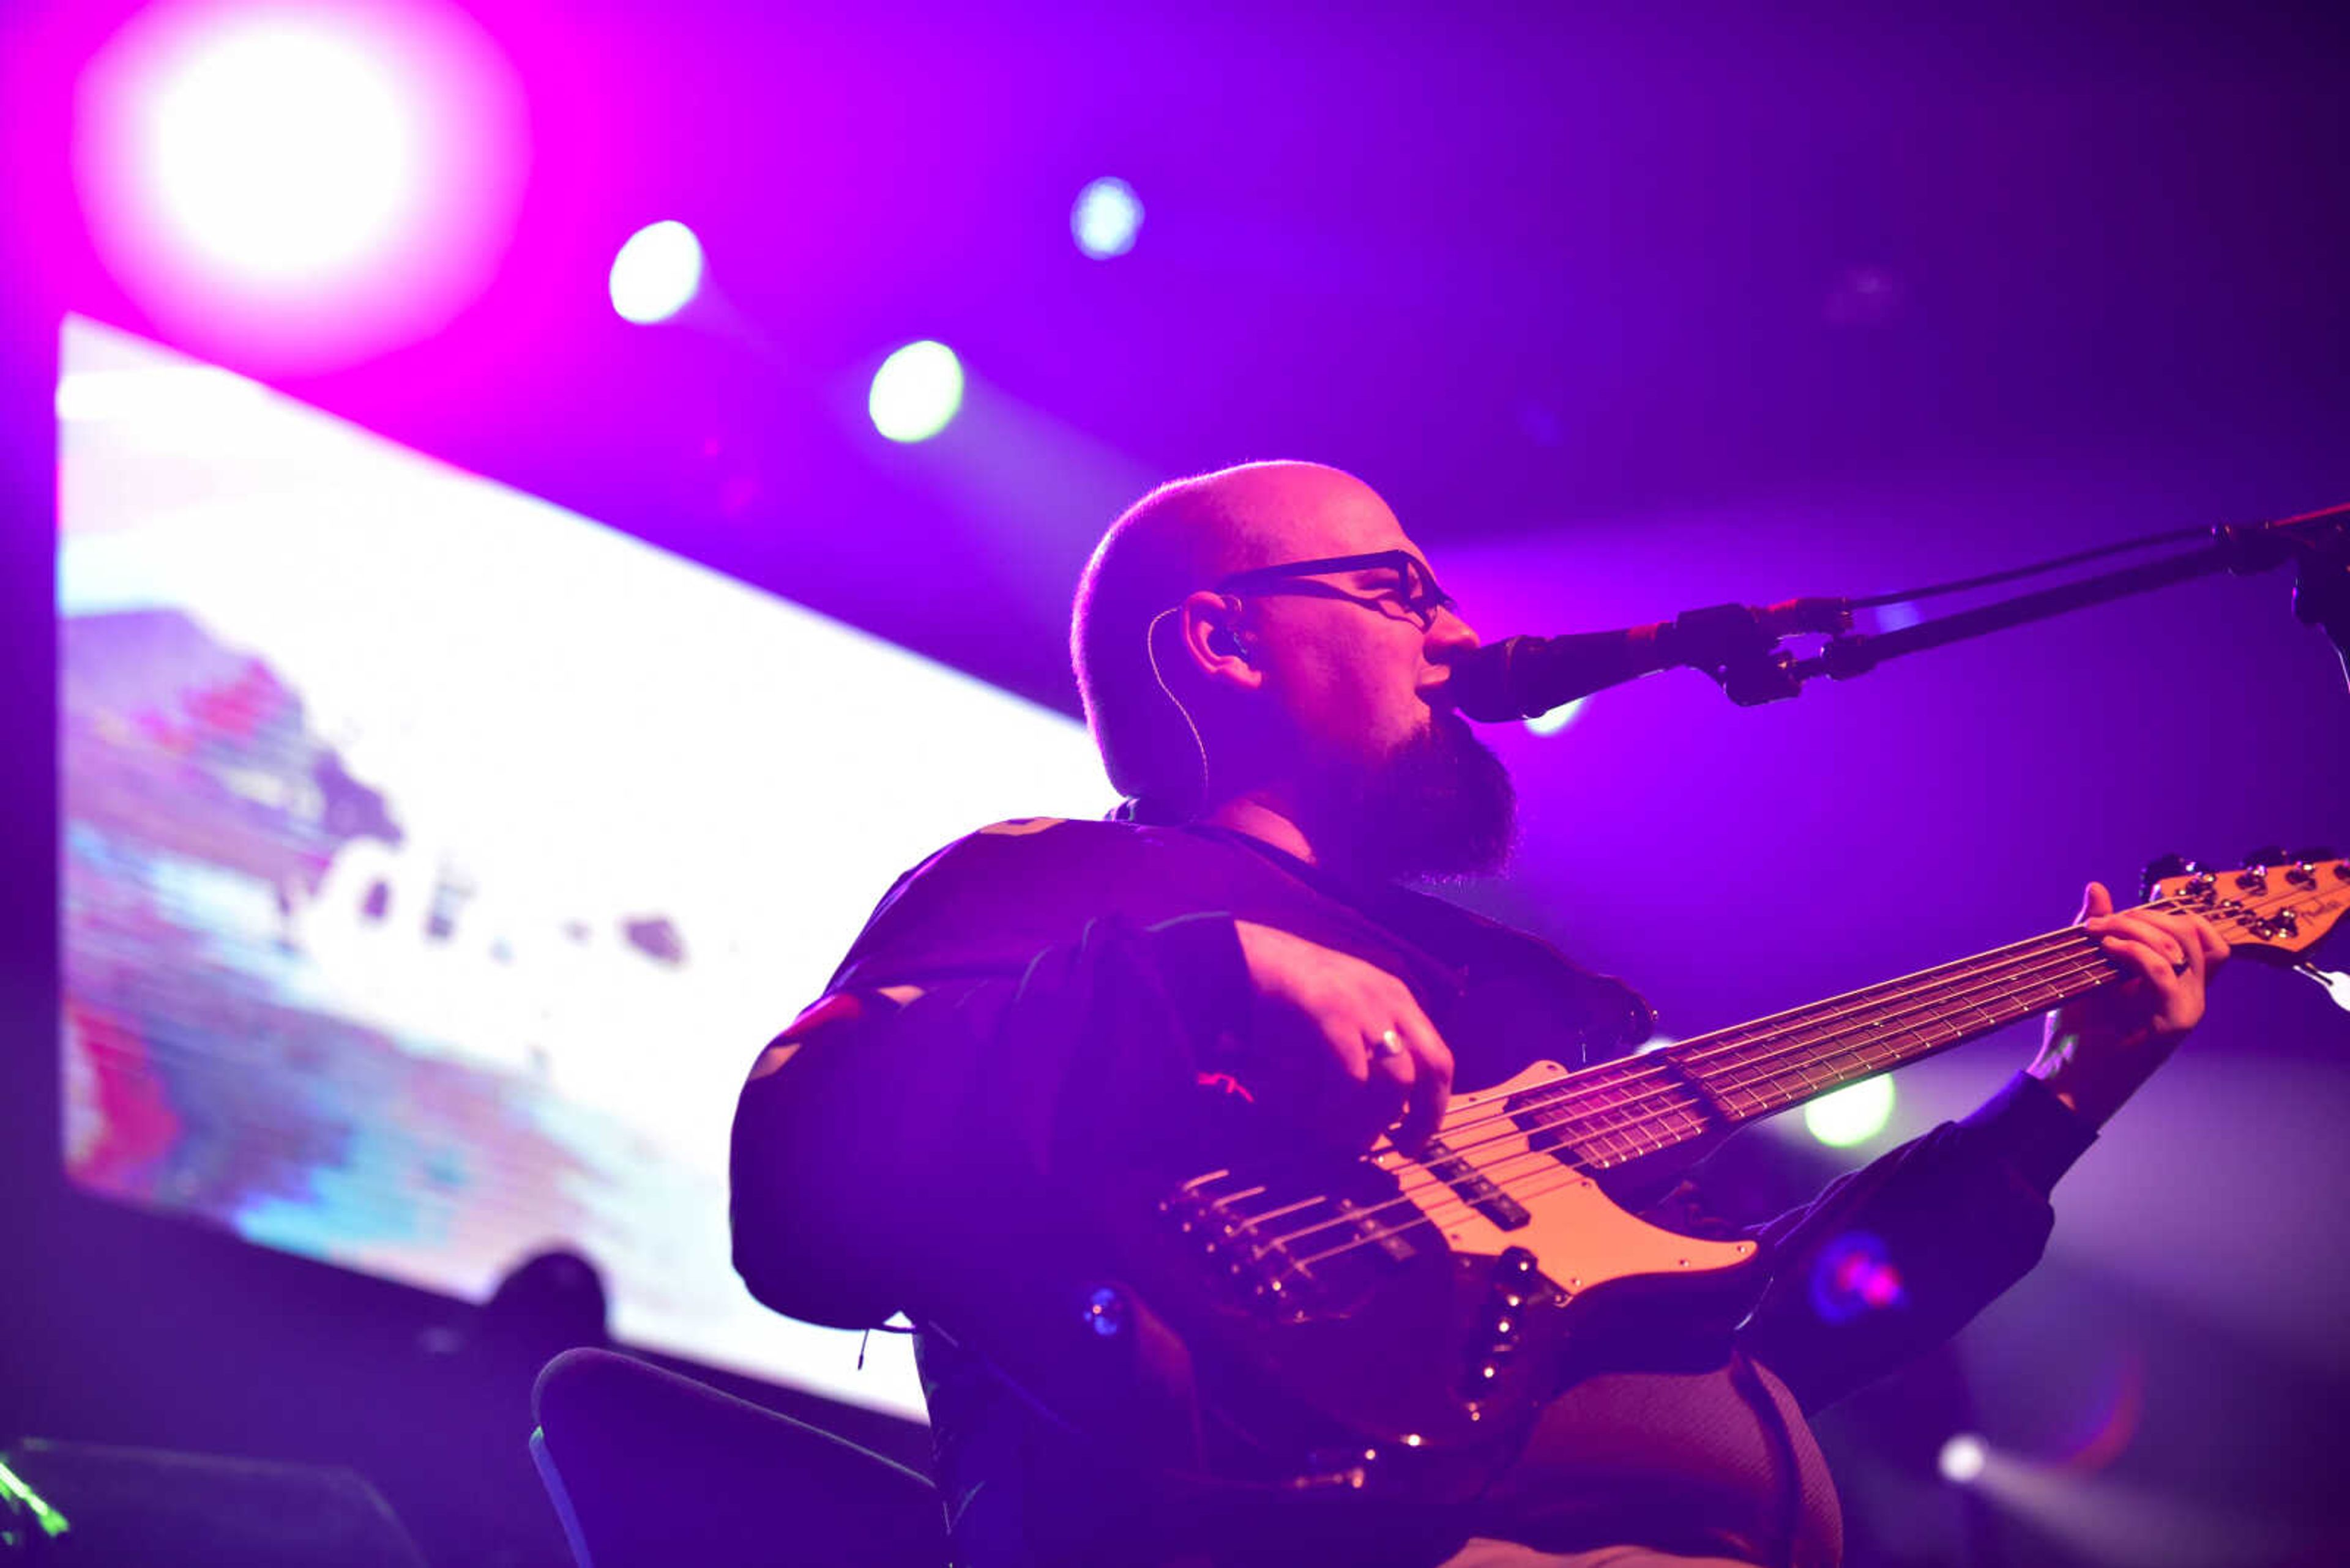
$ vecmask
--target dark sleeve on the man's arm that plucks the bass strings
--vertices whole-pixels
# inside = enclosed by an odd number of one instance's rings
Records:
[[[846,994],[743,1091],[733,1255],[768,1307],[870,1326],[987,1295],[1015,1260],[1083,1258],[1107,1173],[1180,1161],[1248,985],[1231,917],[1191,914],[1093,919],[902,1004]]]

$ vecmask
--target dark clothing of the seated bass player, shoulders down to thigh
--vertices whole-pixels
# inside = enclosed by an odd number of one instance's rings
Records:
[[[1532,936],[1213,827],[1001,823],[907,872],[743,1093],[736,1267],[792,1316],[905,1309],[926,1326],[966,1568],[1436,1563],[1471,1533],[1833,1563],[1835,1495],[1802,1413],[2019,1279],[2044,1246],[2049,1187],[2092,1140],[2019,1077],[1838,1180],[1755,1232],[1758,1295],[1659,1326],[1619,1371],[1565,1389],[1473,1507],[1220,1507],[1154,1481],[1201,1465],[1180,1347],[1152,1359],[1140,1406],[1133,1366],[1102,1380],[1119,1385],[1114,1455],[1081,1436],[1079,1305],[1109,1208],[1203,1168],[1231,1095],[1271,1067],[1236,919],[1396,973],[1452,1046],[1459,1088],[1544,1058],[1605,1060],[1647,1032],[1629,987]],[[1866,1272],[1854,1309],[1833,1279],[1821,1291],[1847,1262]],[[1062,1321],[1067,1340],[1020,1331]],[[1060,1394],[1050,1410],[1022,1392],[1041,1385]]]

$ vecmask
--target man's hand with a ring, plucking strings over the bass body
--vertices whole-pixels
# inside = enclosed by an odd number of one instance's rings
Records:
[[[1412,990],[1302,936],[1248,919],[1234,929],[1257,994],[1257,1039],[1307,1100],[1292,1110],[1351,1152],[1389,1128],[1396,1147],[1419,1152],[1452,1095],[1452,1051]]]

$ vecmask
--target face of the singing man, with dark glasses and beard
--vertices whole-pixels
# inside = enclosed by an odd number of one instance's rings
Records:
[[[1379,550],[1426,559],[1386,503],[1351,480],[1288,517],[1274,559],[1255,564]],[[1450,607],[1415,614],[1410,583],[1391,567],[1307,581],[1314,590],[1231,592],[1295,771],[1323,835],[1340,839],[1328,849],[1382,877],[1497,870],[1516,820],[1509,773],[1445,698],[1450,665],[1478,646],[1476,632]]]

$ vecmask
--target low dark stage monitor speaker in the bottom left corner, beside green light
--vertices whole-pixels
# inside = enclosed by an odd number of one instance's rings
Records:
[[[0,1453],[63,1516],[14,1523],[19,1561],[106,1568],[425,1568],[357,1472],[28,1436]]]

